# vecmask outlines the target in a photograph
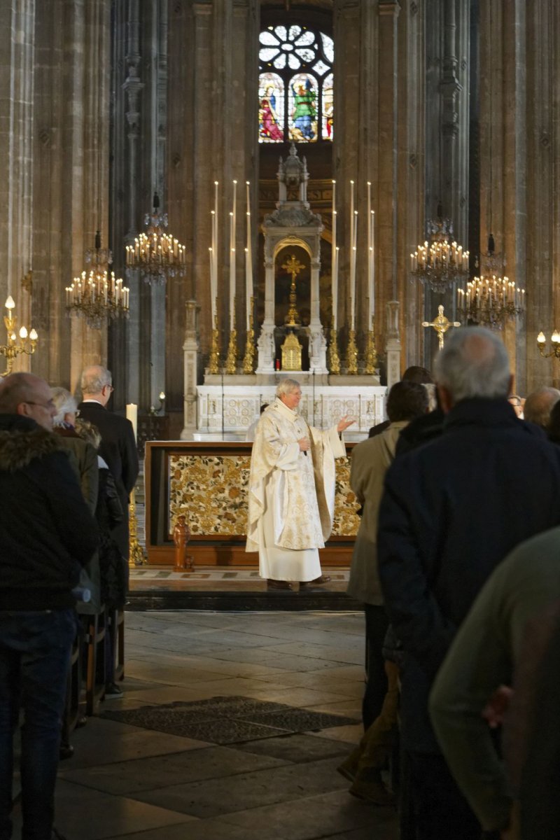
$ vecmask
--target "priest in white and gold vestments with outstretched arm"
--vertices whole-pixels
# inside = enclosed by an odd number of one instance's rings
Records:
[[[300,400],[299,382],[282,380],[254,436],[246,550],[259,552],[270,589],[325,582],[318,549],[332,530],[334,459],[346,455],[339,434],[353,423],[321,432],[298,415]]]

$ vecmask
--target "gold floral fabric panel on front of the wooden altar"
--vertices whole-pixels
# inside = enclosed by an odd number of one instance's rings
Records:
[[[250,462],[250,454],[170,455],[170,532],[184,513],[193,537],[244,537]],[[350,490],[349,460],[338,459],[332,537],[358,533],[358,507]]]

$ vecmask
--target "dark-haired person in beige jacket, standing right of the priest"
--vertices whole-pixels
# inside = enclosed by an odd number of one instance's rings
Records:
[[[390,389],[386,413],[390,420],[385,432],[368,438],[354,447],[350,486],[362,506],[359,530],[354,543],[348,595],[364,604],[366,687],[362,719],[367,732],[379,716],[388,689],[385,659],[382,653],[387,617],[377,573],[377,517],[383,493],[385,472],[395,458],[395,447],[403,429],[428,409],[428,394],[423,385],[400,381]],[[365,738],[365,736],[364,736]],[[378,772],[370,774],[360,765],[364,743],[355,749],[340,771],[353,782],[350,793],[372,798],[379,804],[388,801],[387,791]]]

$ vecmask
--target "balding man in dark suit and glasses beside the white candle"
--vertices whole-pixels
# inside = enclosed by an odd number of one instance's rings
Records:
[[[132,423],[126,417],[107,411],[113,393],[111,371],[92,365],[81,374],[80,417],[94,423],[101,434],[99,454],[113,474],[124,517],[112,536],[128,563],[128,496],[138,478],[138,452]]]

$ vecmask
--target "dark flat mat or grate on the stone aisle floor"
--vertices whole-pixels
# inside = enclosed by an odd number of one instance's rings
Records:
[[[276,738],[295,732],[317,732],[359,723],[353,717],[330,715],[248,697],[211,697],[209,700],[188,703],[104,711],[101,717],[128,723],[133,727],[218,744]]]

